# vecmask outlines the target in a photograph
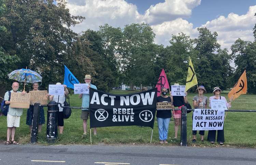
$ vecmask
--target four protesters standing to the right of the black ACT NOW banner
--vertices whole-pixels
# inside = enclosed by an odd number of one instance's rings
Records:
[[[179,84],[174,84],[179,85]],[[193,98],[193,106],[195,109],[207,109],[208,107],[208,97],[204,96],[204,93],[207,93],[204,86],[199,86],[196,89],[196,92],[198,95],[194,96]],[[211,100],[212,99],[221,99],[226,102],[227,108],[231,106],[231,100],[227,102],[226,98],[221,96],[222,90],[219,87],[213,88],[213,96],[209,98],[209,108],[211,108]],[[157,102],[172,102],[174,107],[178,107],[178,109],[181,109],[182,106],[185,106],[188,102],[187,100],[187,93],[185,93],[186,96],[172,96],[170,91],[170,96],[167,96],[168,90],[167,88],[163,87],[161,88],[161,96],[157,97]],[[174,138],[177,138],[177,133],[179,129],[179,125],[181,125],[181,110],[165,110],[165,111],[157,111],[156,117],[157,117],[157,123],[158,123],[158,133],[159,133],[159,140],[160,143],[168,143],[167,137],[168,137],[168,128],[169,128],[169,122],[170,118],[173,116],[174,119]],[[192,116],[193,118],[193,116]],[[196,142],[196,134],[197,131],[192,131],[193,139],[192,142]],[[201,135],[201,141],[204,141],[204,131],[199,131],[199,134]],[[207,140],[214,144],[216,138],[216,130],[210,130],[208,132]],[[224,129],[217,131],[217,142],[220,145],[223,145],[225,142],[224,140]]]

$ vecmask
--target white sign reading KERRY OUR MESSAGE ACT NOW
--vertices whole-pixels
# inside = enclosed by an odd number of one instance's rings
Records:
[[[224,110],[195,109],[193,130],[223,130]]]

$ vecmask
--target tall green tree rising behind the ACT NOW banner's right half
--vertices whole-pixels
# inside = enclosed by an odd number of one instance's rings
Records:
[[[154,62],[158,45],[153,44],[155,33],[145,23],[132,23],[123,30],[122,74],[123,82],[133,85],[149,85],[154,76]]]

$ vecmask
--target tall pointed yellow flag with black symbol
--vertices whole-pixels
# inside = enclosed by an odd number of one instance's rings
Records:
[[[193,64],[189,57],[189,65],[187,70],[187,80],[186,80],[186,92],[189,88],[197,84],[196,72],[194,70]]]

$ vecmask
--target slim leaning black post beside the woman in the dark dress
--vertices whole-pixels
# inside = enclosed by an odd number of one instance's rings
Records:
[[[30,136],[30,143],[37,143],[37,134],[38,134],[38,119],[39,119],[39,105],[40,103],[34,103],[33,108],[33,118],[32,118],[32,129]]]

